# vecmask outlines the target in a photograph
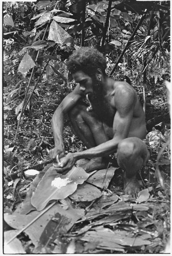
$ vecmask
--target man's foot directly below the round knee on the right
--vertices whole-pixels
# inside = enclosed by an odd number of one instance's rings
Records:
[[[141,186],[136,177],[124,177],[124,194],[136,197],[141,189]]]

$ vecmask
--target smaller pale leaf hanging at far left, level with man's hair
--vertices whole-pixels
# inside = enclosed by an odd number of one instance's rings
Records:
[[[23,76],[24,75],[26,76],[27,72],[34,66],[36,66],[36,65],[35,65],[35,62],[33,61],[32,57],[28,53],[26,53],[26,54],[24,54],[24,56],[19,64],[18,71],[20,73],[22,73]]]

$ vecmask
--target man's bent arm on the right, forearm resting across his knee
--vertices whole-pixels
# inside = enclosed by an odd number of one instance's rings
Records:
[[[68,168],[67,166],[70,166],[70,163],[72,165],[81,158],[102,157],[107,154],[115,153],[117,151],[118,143],[122,139],[127,138],[133,118],[134,105],[136,102],[135,92],[130,88],[125,88],[124,86],[119,87],[115,92],[114,102],[116,114],[113,121],[113,139],[98,146],[89,148],[86,151],[69,153],[65,158],[62,159],[60,165],[61,167],[62,165],[64,166],[64,170]]]

